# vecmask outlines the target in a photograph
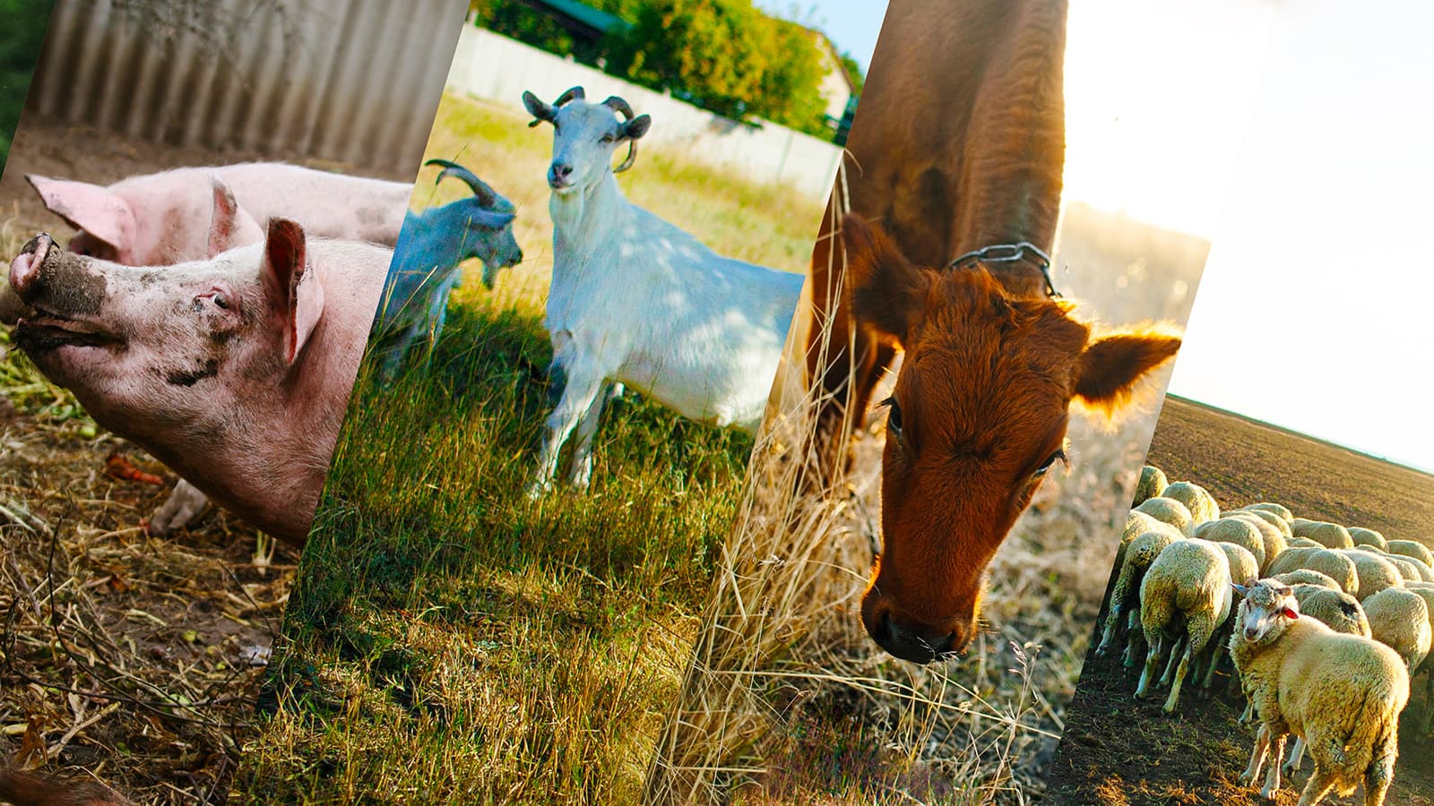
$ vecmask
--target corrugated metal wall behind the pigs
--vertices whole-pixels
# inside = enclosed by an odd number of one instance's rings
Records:
[[[466,10],[467,0],[56,0],[26,106],[169,145],[416,171]]]

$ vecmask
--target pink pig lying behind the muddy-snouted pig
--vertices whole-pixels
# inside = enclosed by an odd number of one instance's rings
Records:
[[[44,207],[80,229],[70,251],[125,265],[169,265],[214,257],[209,198],[231,191],[239,218],[232,245],[262,240],[270,218],[293,218],[320,238],[394,245],[413,185],[314,171],[281,162],[176,168],[109,186],[27,174]],[[218,179],[218,182],[215,182]],[[218,202],[217,202],[218,204]],[[247,238],[247,240],[245,240]]]

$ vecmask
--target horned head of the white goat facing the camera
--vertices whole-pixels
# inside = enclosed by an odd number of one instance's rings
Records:
[[[575,86],[548,105],[531,92],[523,93],[523,106],[536,126],[552,123],[552,163],[548,166],[548,186],[564,195],[574,189],[591,188],[608,172],[621,174],[637,159],[637,141],[647,133],[652,119],[632,116],[632,108],[618,96],[602,103],[588,103],[582,87]],[[618,118],[624,115],[627,120]],[[612,168],[612,152],[628,143],[627,159]]]

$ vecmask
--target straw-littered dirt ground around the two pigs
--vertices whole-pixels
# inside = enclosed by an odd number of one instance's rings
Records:
[[[73,234],[26,172],[105,184],[260,158],[275,155],[174,149],[29,113],[0,181],[4,264],[37,231]],[[108,475],[110,453],[163,483]],[[141,521],[175,480],[96,429],[0,327],[0,759],[93,776],[141,803],[222,799],[297,554],[214,508],[191,532],[145,536]]]

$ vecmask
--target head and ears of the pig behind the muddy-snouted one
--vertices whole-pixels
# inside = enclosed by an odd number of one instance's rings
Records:
[[[169,265],[264,240],[215,175],[168,171],[108,188],[27,174],[44,207],[79,229],[69,250],[123,265]]]

